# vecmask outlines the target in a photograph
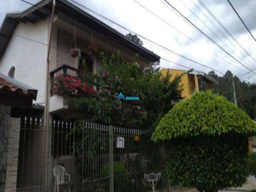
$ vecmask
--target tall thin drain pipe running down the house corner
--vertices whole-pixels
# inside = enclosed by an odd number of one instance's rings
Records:
[[[48,51],[47,51],[47,64],[46,64],[46,90],[45,90],[45,104],[44,104],[44,145],[43,145],[43,177],[42,184],[44,184],[44,176],[45,176],[45,160],[46,160],[46,135],[48,130],[48,88],[49,88],[49,65],[50,65],[50,48],[51,48],[51,40],[52,40],[52,24],[55,13],[56,0],[52,1],[52,18],[50,25],[50,37],[48,41]]]

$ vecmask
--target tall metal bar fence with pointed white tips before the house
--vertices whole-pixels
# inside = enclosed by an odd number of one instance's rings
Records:
[[[145,192],[151,172],[162,173],[156,191],[170,190],[163,148],[141,130],[58,119],[46,127],[38,117],[21,123],[17,191]]]

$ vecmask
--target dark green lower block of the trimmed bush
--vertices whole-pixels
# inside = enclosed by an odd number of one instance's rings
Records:
[[[166,142],[166,148],[167,172],[172,183],[208,192],[242,186],[248,177],[246,136],[172,139]]]

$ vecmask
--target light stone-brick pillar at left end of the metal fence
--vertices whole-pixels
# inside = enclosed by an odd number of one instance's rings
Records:
[[[20,142],[20,118],[10,118],[9,146],[6,173],[6,192],[16,190],[18,154]]]

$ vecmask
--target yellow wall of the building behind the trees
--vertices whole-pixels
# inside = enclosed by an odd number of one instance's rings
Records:
[[[172,75],[171,80],[173,80],[175,76],[186,72],[185,70],[165,69],[165,68],[162,68],[160,72],[162,73],[163,76],[166,76],[168,70],[169,70],[169,73]],[[185,74],[184,76],[182,76],[180,85],[182,84],[184,89],[182,92],[182,97],[190,98],[195,91],[199,91],[198,79],[197,79],[197,76],[194,74]]]

